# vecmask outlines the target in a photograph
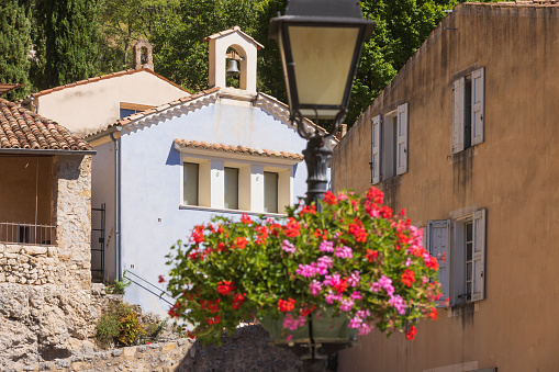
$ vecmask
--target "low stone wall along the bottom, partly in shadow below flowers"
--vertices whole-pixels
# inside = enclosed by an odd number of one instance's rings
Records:
[[[101,352],[86,352],[24,365],[23,371],[156,371],[156,372],[225,372],[277,371],[295,372],[300,359],[292,352],[269,345],[269,335],[259,325],[238,328],[223,346],[201,347],[192,339],[152,343]],[[328,370],[329,371],[329,370]]]

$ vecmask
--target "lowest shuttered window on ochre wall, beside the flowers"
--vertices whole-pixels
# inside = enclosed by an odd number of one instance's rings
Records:
[[[438,306],[447,306],[446,298],[450,306],[485,298],[485,210],[452,221],[429,221],[426,248],[439,258]]]

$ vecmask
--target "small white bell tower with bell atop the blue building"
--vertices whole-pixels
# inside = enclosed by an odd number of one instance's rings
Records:
[[[239,26],[208,36],[204,42],[210,42],[210,88],[226,88],[226,70],[237,66],[239,89],[245,94],[256,94],[256,57],[264,45],[241,31]],[[227,53],[230,49],[234,52]],[[236,64],[232,64],[233,60]]]

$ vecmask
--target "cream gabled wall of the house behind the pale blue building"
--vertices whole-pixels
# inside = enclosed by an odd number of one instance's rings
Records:
[[[120,119],[120,102],[160,105],[187,91],[145,70],[102,79],[40,95],[38,114],[76,133],[105,128]]]

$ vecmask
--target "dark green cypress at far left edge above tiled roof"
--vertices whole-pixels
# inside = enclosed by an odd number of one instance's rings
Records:
[[[5,98],[18,100],[31,91],[27,59],[31,49],[29,8],[18,0],[4,0],[0,8],[0,82],[22,83]]]

